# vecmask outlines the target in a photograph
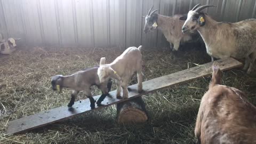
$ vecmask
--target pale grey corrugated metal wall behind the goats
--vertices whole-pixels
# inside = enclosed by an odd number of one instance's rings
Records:
[[[142,33],[152,5],[163,15],[187,13],[197,3],[215,20],[256,17],[255,0],[0,0],[0,31],[28,46],[163,46],[160,31]]]

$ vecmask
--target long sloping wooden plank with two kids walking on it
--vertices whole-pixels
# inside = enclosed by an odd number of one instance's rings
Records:
[[[218,60],[217,62],[219,63],[221,70],[228,70],[228,69],[242,66],[241,62],[233,58],[229,58],[226,60]],[[167,86],[186,83],[188,81],[191,81],[193,79],[196,79],[202,76],[211,75],[211,71],[212,71],[211,66],[212,66],[212,62],[209,62],[200,67],[196,66],[196,67],[190,68],[190,70],[185,69],[177,73],[150,79],[149,81],[143,82],[143,90],[145,92],[141,94],[146,94],[159,89],[163,89],[164,87],[167,87]],[[131,85],[129,87],[131,89],[137,89],[137,84]],[[141,96],[141,94],[137,93],[137,91],[130,91],[128,99],[119,100],[115,98],[115,93],[116,91],[111,91],[109,94],[111,95],[112,98],[107,98],[104,101],[102,101],[102,104],[105,106],[101,106],[101,107],[96,106],[95,109],[108,107],[110,105],[114,105],[117,102],[123,102],[126,100],[130,100],[132,98]],[[94,99],[98,99],[99,97],[100,95],[95,96]],[[90,107],[89,99],[82,100],[81,102],[80,101],[75,102],[73,108],[74,108],[73,111],[69,111],[67,106],[62,106],[62,107],[58,107],[58,108],[54,108],[46,111],[41,111],[34,115],[15,119],[14,121],[9,122],[6,134],[8,135],[16,134],[16,133],[33,130],[38,127],[59,122],[63,119],[67,119],[67,118],[76,116],[78,114],[83,114],[92,110]]]

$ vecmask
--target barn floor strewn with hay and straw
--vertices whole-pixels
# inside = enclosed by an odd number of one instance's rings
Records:
[[[97,65],[101,57],[107,62],[121,54],[118,48],[21,49],[10,56],[0,55],[0,143],[193,143],[194,126],[200,99],[210,77],[176,85],[143,97],[150,119],[145,124],[118,125],[114,106],[76,116],[25,134],[7,137],[8,121],[35,114],[69,102],[70,91],[58,94],[51,90],[50,78],[68,75]],[[143,49],[143,81],[187,68],[188,62],[206,63],[205,51],[186,49],[177,57],[162,49]],[[132,83],[135,83],[135,77]],[[245,91],[256,105],[256,78],[241,69],[223,73],[223,84]],[[0,86],[1,87],[1,86]],[[115,89],[113,85],[112,90]],[[94,95],[99,94],[95,90]],[[83,93],[79,99],[85,99]]]

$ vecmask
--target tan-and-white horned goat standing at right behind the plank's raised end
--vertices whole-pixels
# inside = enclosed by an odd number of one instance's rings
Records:
[[[204,40],[206,51],[212,57],[212,61],[214,58],[245,58],[243,69],[247,69],[248,74],[251,73],[256,59],[256,19],[235,23],[217,22],[202,12],[206,7],[214,5],[199,5],[189,11],[187,17],[180,18],[186,20],[182,32],[191,33],[197,30]]]

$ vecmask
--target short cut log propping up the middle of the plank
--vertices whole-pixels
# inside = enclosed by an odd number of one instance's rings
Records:
[[[143,123],[148,120],[145,102],[141,97],[117,103],[116,109],[118,123]]]

